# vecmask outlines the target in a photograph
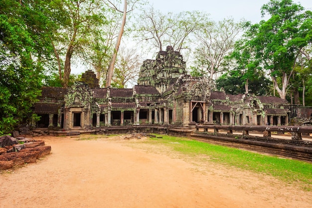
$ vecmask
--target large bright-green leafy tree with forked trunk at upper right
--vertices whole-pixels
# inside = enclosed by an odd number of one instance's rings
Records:
[[[285,99],[300,54],[312,43],[312,12],[292,0],[270,0],[261,8],[268,20],[251,25],[244,46],[253,60],[266,70]]]

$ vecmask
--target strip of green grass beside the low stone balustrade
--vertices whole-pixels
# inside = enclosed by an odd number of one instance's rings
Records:
[[[209,157],[209,162],[273,176],[289,184],[296,182],[302,189],[312,191],[311,163],[262,155],[187,138],[161,136],[162,138],[150,138],[146,143],[165,145],[188,157],[205,155]]]

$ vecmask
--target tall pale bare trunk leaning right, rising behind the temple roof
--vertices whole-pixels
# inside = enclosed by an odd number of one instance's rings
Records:
[[[127,16],[127,0],[124,0],[123,20],[122,20],[122,23],[121,23],[121,26],[120,26],[120,30],[119,30],[119,33],[118,33],[114,54],[112,56],[112,59],[111,59],[111,62],[110,62],[110,66],[109,66],[108,71],[107,71],[105,87],[111,86],[113,72],[114,72],[114,66],[115,66],[115,61],[116,61],[119,45],[120,45],[120,42],[121,42],[121,37],[123,36],[124,27],[125,27],[125,24],[126,24],[126,16]]]

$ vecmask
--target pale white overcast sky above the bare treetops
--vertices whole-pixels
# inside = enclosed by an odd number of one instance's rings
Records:
[[[293,0],[312,10],[312,0]],[[149,0],[154,8],[161,12],[178,13],[181,11],[205,11],[210,13],[211,20],[233,17],[236,21],[245,18],[252,23],[259,22],[261,6],[269,0]]]

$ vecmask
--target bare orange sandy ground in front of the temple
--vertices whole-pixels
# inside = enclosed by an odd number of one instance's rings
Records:
[[[41,139],[50,155],[0,174],[0,208],[312,208],[312,192],[144,139]]]

